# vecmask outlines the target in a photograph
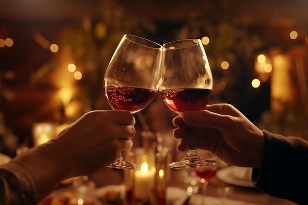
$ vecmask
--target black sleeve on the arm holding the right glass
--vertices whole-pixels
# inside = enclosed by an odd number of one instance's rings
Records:
[[[253,168],[252,181],[260,190],[300,205],[308,204],[308,141],[263,131],[264,157]]]

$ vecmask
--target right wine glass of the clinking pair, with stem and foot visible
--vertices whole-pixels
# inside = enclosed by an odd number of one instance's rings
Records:
[[[166,43],[163,47],[159,94],[164,103],[179,115],[184,111],[203,110],[211,97],[213,77],[201,40],[178,40]],[[201,159],[198,156],[191,132],[191,129],[187,131],[188,147],[185,158],[172,162],[169,167],[196,168],[216,163],[215,160]]]

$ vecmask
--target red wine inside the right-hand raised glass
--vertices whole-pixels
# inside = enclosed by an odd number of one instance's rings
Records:
[[[211,98],[211,89],[178,88],[159,91],[165,104],[174,112],[200,111]]]

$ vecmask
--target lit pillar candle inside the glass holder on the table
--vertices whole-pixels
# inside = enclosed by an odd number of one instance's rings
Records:
[[[155,180],[154,170],[148,169],[148,163],[143,162],[141,170],[135,171],[134,179],[134,195],[135,198],[141,201],[150,201],[153,193]]]

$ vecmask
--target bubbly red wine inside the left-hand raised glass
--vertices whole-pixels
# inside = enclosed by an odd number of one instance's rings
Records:
[[[107,87],[105,95],[109,105],[115,110],[136,113],[147,107],[154,99],[156,90],[132,87]]]

